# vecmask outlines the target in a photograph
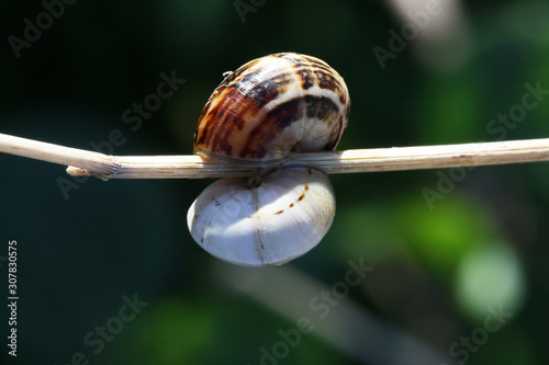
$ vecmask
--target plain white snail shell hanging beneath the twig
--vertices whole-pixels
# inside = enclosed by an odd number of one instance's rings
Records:
[[[260,178],[222,179],[189,208],[193,239],[212,255],[245,266],[279,265],[310,251],[335,215],[327,174],[287,162]]]

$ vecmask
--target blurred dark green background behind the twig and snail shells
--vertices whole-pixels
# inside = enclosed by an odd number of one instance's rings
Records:
[[[115,155],[191,153],[222,73],[291,50],[348,84],[338,149],[549,134],[547,94],[519,114],[526,84],[549,89],[547,1],[59,3],[0,3],[0,133],[92,149],[117,129]],[[125,123],[161,72],[186,82]],[[549,363],[546,163],[333,175],[328,235],[270,269],[225,265],[192,241],[187,209],[211,181],[75,181],[8,155],[0,170],[21,364]],[[341,284],[349,261],[371,269],[355,286]],[[5,261],[0,273],[5,304]]]

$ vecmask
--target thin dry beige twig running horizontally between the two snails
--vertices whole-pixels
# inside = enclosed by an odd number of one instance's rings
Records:
[[[200,156],[108,156],[0,134],[0,152],[68,166],[71,175],[109,179],[249,176],[261,168]],[[295,153],[328,173],[418,170],[549,161],[549,138],[464,145]]]

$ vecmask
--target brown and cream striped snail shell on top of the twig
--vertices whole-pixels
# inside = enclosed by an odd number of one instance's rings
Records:
[[[326,62],[293,53],[249,61],[215,89],[200,116],[194,151],[251,161],[334,150],[350,101]]]

